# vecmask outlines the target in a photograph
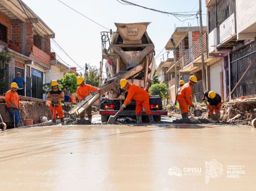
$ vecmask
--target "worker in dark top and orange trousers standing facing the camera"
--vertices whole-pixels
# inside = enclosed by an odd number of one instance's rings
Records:
[[[64,114],[61,106],[61,101],[64,100],[64,95],[62,90],[58,88],[58,82],[56,80],[52,80],[51,82],[52,90],[49,91],[47,100],[51,101],[50,103],[50,111],[52,118],[52,124],[56,125],[56,112],[58,113],[58,117],[61,120],[62,125],[65,124],[64,122]],[[54,110],[54,114],[53,114]]]

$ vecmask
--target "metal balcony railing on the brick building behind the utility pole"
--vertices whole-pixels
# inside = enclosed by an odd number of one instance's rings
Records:
[[[203,44],[204,44],[204,53],[207,52],[207,33],[203,35]],[[199,56],[201,56],[201,42],[200,38],[194,42],[194,44],[188,48],[185,52],[185,66],[193,62],[195,59],[197,59]]]

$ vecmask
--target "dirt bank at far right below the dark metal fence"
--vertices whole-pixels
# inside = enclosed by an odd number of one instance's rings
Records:
[[[256,118],[256,99],[226,103],[223,106],[221,120],[251,126]]]

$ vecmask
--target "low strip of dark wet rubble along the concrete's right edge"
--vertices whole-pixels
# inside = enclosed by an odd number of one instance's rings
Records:
[[[230,122],[224,122],[224,121],[213,121],[211,119],[201,119],[201,118],[194,118],[189,117],[188,119],[175,119],[172,121],[174,124],[181,124],[181,123],[187,123],[187,124],[209,124],[209,125],[234,125]]]

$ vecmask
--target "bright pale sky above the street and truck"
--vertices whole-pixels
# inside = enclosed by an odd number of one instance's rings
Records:
[[[197,19],[180,22],[172,15],[154,12],[137,6],[123,5],[117,0],[61,0],[73,9],[103,25],[116,31],[114,22],[151,22],[147,32],[155,44],[156,55],[166,51],[165,47],[175,26],[198,26]],[[165,12],[198,11],[199,0],[129,0],[141,6]],[[23,0],[45,23],[55,32],[55,41],[81,67],[85,63],[99,67],[101,61],[101,31],[107,31],[100,25],[76,13],[74,10],[60,3],[58,0]],[[206,25],[206,8],[202,0],[203,25]],[[181,18],[182,19],[182,18]],[[51,43],[54,52],[69,66],[79,68],[65,53]],[[169,54],[171,56],[172,52]],[[167,57],[166,53],[164,54]],[[161,56],[162,57],[162,56]],[[160,63],[156,59],[156,65]],[[63,62],[62,62],[63,63]],[[79,71],[79,72],[80,72]]]

